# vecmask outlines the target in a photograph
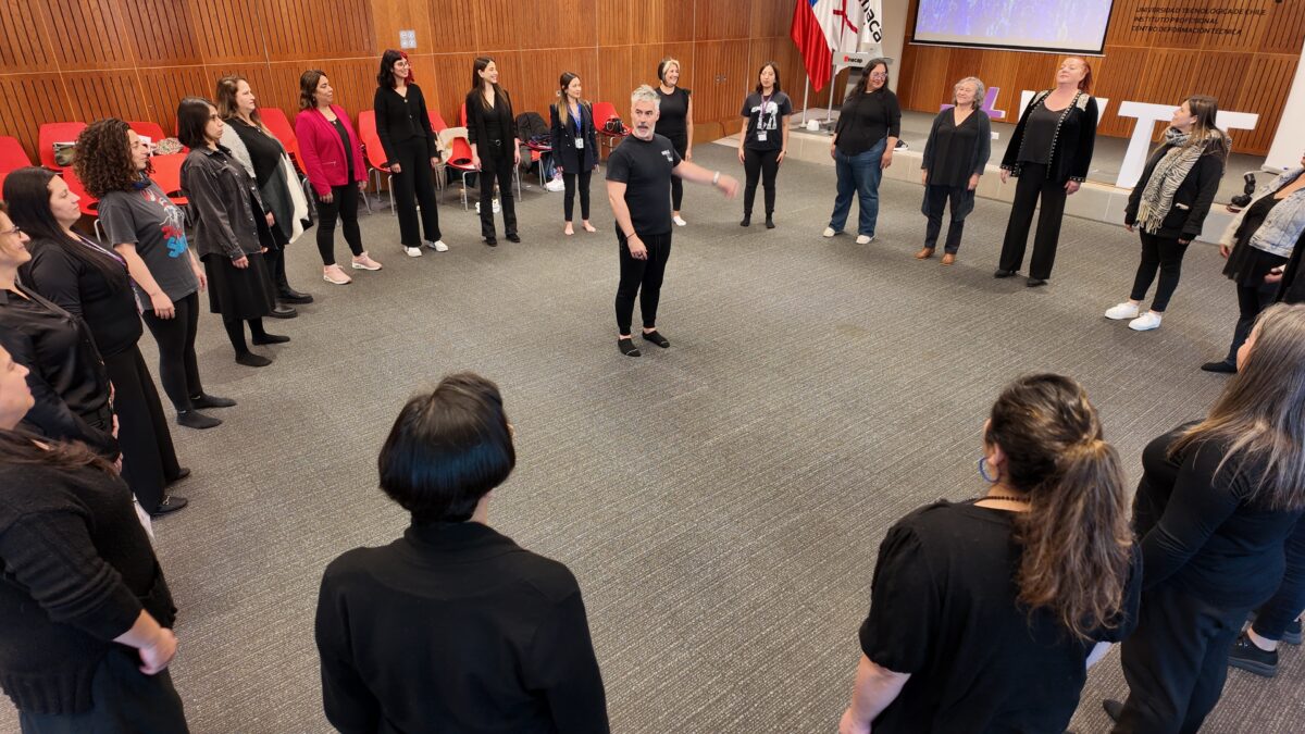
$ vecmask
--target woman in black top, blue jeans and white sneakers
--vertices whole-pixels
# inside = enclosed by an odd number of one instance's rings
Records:
[[[834,138],[829,144],[829,154],[838,171],[838,196],[825,236],[843,231],[855,193],[860,209],[856,244],[874,242],[874,226],[880,219],[880,179],[883,178],[883,168],[893,165],[900,129],[902,108],[897,94],[889,89],[889,63],[870,59],[861,81],[843,102]]]

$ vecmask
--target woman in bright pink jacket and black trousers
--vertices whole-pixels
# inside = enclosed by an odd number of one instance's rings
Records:
[[[333,104],[335,91],[317,69],[299,77],[299,116],[295,136],[299,157],[317,195],[317,251],[322,256],[322,279],[343,286],[354,279],[335,264],[335,219],[345,223],[345,242],[354,252],[354,269],[380,270],[367,256],[358,231],[358,195],[367,188],[367,167],[358,135],[343,107]],[[355,188],[355,182],[358,187]]]

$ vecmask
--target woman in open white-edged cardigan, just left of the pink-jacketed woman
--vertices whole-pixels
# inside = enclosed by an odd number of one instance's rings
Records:
[[[286,246],[304,234],[308,218],[308,197],[299,184],[290,155],[281,141],[271,135],[258,116],[258,101],[249,82],[240,76],[218,80],[218,114],[226,123],[222,128],[222,145],[244,166],[245,172],[258,184],[258,193],[271,212],[273,246],[268,248],[268,266],[271,281],[277,286],[277,308],[271,315],[277,319],[296,316],[291,303],[312,303],[313,296],[290,287],[286,278]]]

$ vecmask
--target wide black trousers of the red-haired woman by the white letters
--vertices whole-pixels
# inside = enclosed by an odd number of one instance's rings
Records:
[[[1028,263],[1028,277],[1047,279],[1052,277],[1056,264],[1056,246],[1060,242],[1060,226],[1065,218],[1065,182],[1056,182],[1047,175],[1047,166],[1022,163],[1023,175],[1015,180],[1015,199],[1010,206],[1010,219],[1006,222],[1006,238],[1001,244],[1002,270],[1019,270],[1028,247],[1028,227],[1037,210],[1037,232],[1034,235],[1034,256]]]

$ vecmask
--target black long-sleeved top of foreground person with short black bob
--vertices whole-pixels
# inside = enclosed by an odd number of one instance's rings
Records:
[[[606,734],[576,577],[479,522],[414,524],[326,567],[326,718],[345,734]]]

